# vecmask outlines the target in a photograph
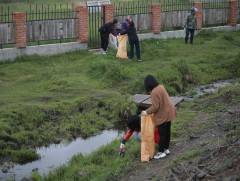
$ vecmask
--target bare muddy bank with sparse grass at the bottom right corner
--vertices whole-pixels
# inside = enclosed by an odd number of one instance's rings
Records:
[[[147,163],[139,162],[117,180],[240,180],[240,102],[231,104],[229,95],[203,102],[199,104],[220,102],[227,106],[214,111],[214,114],[198,111],[185,128],[186,135],[171,142],[169,156]],[[197,107],[193,109],[198,110]],[[206,126],[198,129],[201,125]],[[191,156],[195,153],[197,156]]]

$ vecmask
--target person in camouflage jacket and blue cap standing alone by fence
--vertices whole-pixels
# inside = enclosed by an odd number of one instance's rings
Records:
[[[185,43],[188,42],[188,36],[190,33],[190,44],[193,44],[193,37],[194,32],[197,28],[197,18],[196,18],[196,12],[198,11],[197,8],[192,8],[191,13],[187,16],[184,28],[186,29],[186,36],[185,36]]]

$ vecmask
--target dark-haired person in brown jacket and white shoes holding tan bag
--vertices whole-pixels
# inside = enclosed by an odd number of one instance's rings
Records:
[[[158,134],[161,138],[158,143],[158,153],[154,158],[164,158],[170,154],[171,121],[176,118],[176,108],[164,86],[160,85],[152,75],[148,75],[144,79],[144,87],[147,92],[151,91],[152,105],[142,111],[142,114],[153,113]]]

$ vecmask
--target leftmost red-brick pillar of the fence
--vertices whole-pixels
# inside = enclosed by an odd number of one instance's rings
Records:
[[[13,21],[15,23],[15,40],[17,48],[26,48],[27,46],[27,22],[26,13],[13,13]]]

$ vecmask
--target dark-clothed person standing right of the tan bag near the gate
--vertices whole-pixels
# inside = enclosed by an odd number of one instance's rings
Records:
[[[133,21],[129,23],[128,28],[124,32],[120,33],[120,35],[124,35],[124,34],[128,35],[128,41],[130,44],[129,61],[132,61],[134,57],[134,46],[135,46],[137,59],[139,62],[141,62],[139,39],[138,39],[137,31]]]

